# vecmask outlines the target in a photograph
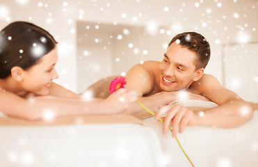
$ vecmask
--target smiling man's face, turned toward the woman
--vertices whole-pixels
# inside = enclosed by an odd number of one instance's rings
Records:
[[[159,65],[161,91],[188,88],[195,79],[195,60],[193,51],[173,42]]]

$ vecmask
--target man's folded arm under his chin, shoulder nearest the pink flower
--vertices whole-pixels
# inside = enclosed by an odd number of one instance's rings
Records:
[[[178,99],[179,93],[177,91],[156,93],[158,90],[155,90],[153,74],[144,64],[138,64],[131,67],[127,72],[126,78],[127,85],[125,88],[135,90],[138,101],[153,112],[158,111],[161,106],[167,105]],[[204,97],[193,93],[188,93],[188,97],[190,99],[204,100]],[[131,104],[129,109],[124,111],[124,113],[142,119],[150,116],[150,113],[145,111],[136,102]]]

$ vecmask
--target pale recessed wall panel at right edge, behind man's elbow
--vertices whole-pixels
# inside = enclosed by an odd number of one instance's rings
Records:
[[[252,102],[258,102],[257,57],[258,42],[225,45],[223,51],[225,87]]]

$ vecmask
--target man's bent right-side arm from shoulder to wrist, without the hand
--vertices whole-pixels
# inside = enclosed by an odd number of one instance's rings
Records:
[[[205,111],[204,117],[200,118],[199,125],[239,127],[252,118],[253,111],[250,104],[236,93],[221,86],[215,77],[205,75],[201,86],[202,94],[219,106]]]

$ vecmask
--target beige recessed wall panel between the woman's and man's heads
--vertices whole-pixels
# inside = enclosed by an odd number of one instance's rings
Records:
[[[165,36],[145,33],[145,26],[77,22],[78,92],[143,61],[161,61]]]

